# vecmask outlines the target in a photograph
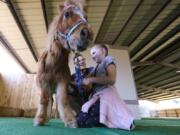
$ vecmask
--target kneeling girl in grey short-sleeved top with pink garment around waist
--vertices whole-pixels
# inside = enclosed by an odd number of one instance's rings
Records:
[[[83,80],[92,85],[92,96],[82,106],[77,117],[79,127],[107,126],[131,130],[133,116],[113,86],[116,81],[116,62],[108,55],[106,45],[95,45],[91,49],[92,59],[97,63],[93,76]]]

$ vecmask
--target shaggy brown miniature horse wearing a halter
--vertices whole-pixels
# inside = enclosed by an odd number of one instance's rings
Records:
[[[69,0],[63,6],[59,6],[60,14],[48,31],[48,48],[39,59],[37,72],[37,84],[41,89],[41,95],[40,106],[34,119],[35,126],[44,125],[48,121],[54,93],[60,118],[66,126],[77,126],[67,96],[70,81],[68,57],[70,51],[83,51],[93,40],[82,2]]]

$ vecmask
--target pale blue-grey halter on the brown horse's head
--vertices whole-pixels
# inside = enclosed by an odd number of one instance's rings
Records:
[[[71,35],[73,34],[73,32],[81,25],[81,24],[87,24],[87,20],[84,18],[84,15],[82,13],[82,11],[80,10],[79,7],[76,7],[75,5],[69,5],[69,6],[66,6],[66,8],[64,10],[67,10],[68,8],[71,8],[71,7],[75,7],[76,10],[77,10],[77,14],[81,17],[81,20],[76,23],[75,25],[73,25],[71,27],[71,29],[68,31],[67,34],[64,34],[62,33],[61,31],[57,31],[56,33],[56,38],[62,38],[66,41],[67,45],[68,45],[68,49],[70,49],[70,44],[69,44],[69,40],[71,38]],[[64,12],[64,11],[63,11]]]

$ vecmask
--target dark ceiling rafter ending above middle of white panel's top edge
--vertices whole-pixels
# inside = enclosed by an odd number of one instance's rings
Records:
[[[115,37],[114,41],[112,41],[112,45],[114,45],[116,43],[116,41],[118,40],[118,38],[120,37],[120,35],[122,34],[122,32],[124,31],[124,29],[127,27],[128,23],[130,22],[130,20],[132,19],[132,17],[134,16],[134,14],[136,13],[136,11],[139,9],[139,7],[141,6],[141,4],[143,3],[143,0],[140,0],[137,4],[137,6],[134,8],[133,12],[131,13],[131,15],[129,16],[129,18],[127,19],[126,23],[124,24],[124,26],[122,27],[122,29],[119,31],[118,35]]]

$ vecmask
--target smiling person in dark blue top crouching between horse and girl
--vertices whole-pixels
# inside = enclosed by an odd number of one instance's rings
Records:
[[[86,59],[81,54],[76,54],[73,58],[75,65],[75,73],[72,74],[72,81],[68,89],[68,95],[72,108],[79,113],[81,106],[88,101],[90,95],[90,87],[84,86],[82,81],[88,77],[93,71],[93,67],[86,67]]]

